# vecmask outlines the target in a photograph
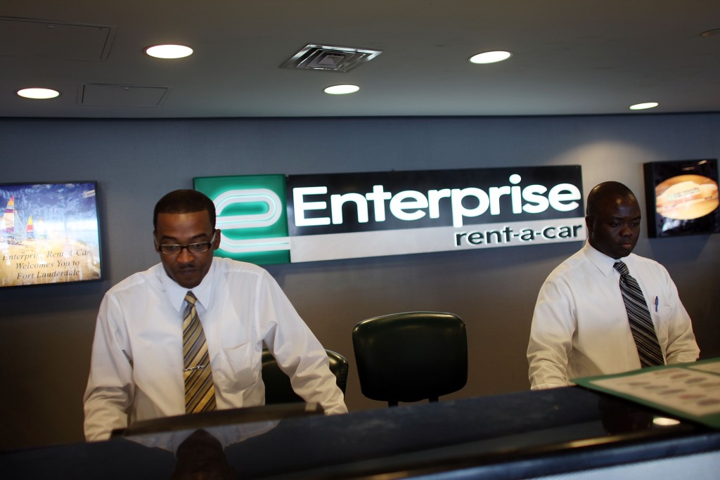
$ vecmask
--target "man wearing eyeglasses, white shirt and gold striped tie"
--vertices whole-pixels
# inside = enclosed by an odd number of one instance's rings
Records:
[[[213,256],[220,230],[207,196],[170,192],[153,224],[161,263],[112,287],[100,305],[84,397],[87,440],[138,420],[264,404],[263,343],[306,402],[347,412],[325,349],[276,281],[258,266]],[[191,365],[190,317],[204,335],[192,340],[204,350]],[[193,383],[207,390],[191,394]],[[199,405],[191,408],[194,396]]]

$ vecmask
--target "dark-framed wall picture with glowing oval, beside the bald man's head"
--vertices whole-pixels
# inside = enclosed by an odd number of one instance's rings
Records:
[[[716,159],[644,164],[649,237],[720,232]]]

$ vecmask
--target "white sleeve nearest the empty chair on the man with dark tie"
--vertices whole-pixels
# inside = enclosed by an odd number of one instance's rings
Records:
[[[535,305],[528,342],[528,378],[532,390],[571,384],[567,361],[576,327],[567,284],[559,279],[546,280]]]

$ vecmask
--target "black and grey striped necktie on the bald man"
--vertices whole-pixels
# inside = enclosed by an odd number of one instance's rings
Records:
[[[650,311],[647,309],[647,302],[645,302],[645,296],[642,294],[640,286],[630,275],[624,262],[618,260],[613,266],[620,272],[620,291],[623,294],[630,330],[640,357],[640,366],[646,368],[665,365],[655,327],[650,318]]]

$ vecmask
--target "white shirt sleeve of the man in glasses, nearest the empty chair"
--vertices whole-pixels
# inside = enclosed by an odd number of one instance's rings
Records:
[[[305,402],[319,403],[328,415],[347,413],[325,348],[268,273],[261,280],[259,296],[260,318],[274,322],[265,343],[290,377],[295,393]]]

